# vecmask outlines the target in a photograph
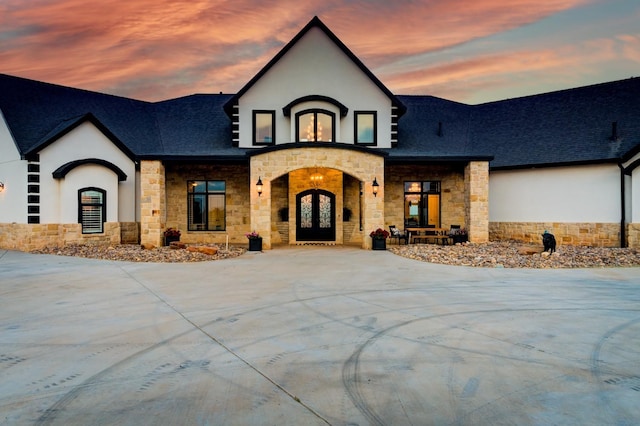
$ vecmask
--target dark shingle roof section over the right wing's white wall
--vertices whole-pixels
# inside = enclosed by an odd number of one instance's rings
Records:
[[[640,78],[477,105],[470,123],[492,168],[616,161],[640,144]]]

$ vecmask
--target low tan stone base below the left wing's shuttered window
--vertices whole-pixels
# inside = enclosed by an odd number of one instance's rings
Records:
[[[106,222],[103,234],[83,234],[79,223],[0,223],[0,247],[7,250],[32,251],[70,244],[113,245],[119,244],[120,238],[118,222]]]

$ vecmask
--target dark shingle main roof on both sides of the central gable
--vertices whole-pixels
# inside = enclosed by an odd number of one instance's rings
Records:
[[[234,95],[150,103],[0,74],[0,110],[23,156],[90,121],[138,159],[245,159],[224,107]],[[640,152],[640,78],[481,105],[398,96],[389,162],[491,161],[492,169],[628,160]],[[615,130],[614,125],[615,123]],[[615,133],[615,134],[614,134]]]

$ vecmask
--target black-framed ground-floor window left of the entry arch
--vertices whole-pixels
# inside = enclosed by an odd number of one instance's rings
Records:
[[[187,181],[189,231],[226,229],[226,183],[222,180]]]

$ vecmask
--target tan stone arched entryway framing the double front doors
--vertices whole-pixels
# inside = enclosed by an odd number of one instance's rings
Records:
[[[304,146],[302,146],[304,145]],[[365,148],[341,145],[341,144],[292,144],[291,146],[282,145],[272,148],[263,149],[251,154],[250,162],[250,175],[251,175],[251,229],[260,233],[263,237],[263,248],[271,248],[272,232],[277,228],[278,211],[276,206],[272,203],[272,182],[274,180],[280,180],[283,176],[288,176],[289,187],[293,187],[295,184],[291,181],[292,175],[304,171],[308,173],[318,168],[336,172],[339,175],[340,182],[342,182],[343,175],[348,174],[352,179],[355,179],[359,184],[359,193],[361,194],[361,210],[362,214],[359,218],[362,232],[368,232],[367,230],[376,229],[378,227],[384,227],[384,156],[385,153],[372,152]],[[262,191],[259,193],[255,183],[258,179],[262,182]],[[372,183],[377,180],[380,185],[377,196],[374,196]],[[310,184],[296,189],[293,194],[289,194],[289,243],[295,244],[301,241],[333,241],[336,244],[343,243],[343,224],[342,219],[338,220],[337,217],[342,217],[342,209],[344,205],[344,197],[342,191],[342,183],[339,185],[340,189],[329,188],[328,184],[325,187],[313,188]],[[275,188],[274,188],[275,189]],[[298,211],[297,197],[298,194],[309,195],[312,192],[308,192],[314,189],[322,189],[324,195],[333,194],[333,223],[331,227],[335,227],[329,238],[327,233],[322,234],[317,224],[312,223],[312,229],[305,235],[306,230],[299,228],[299,220],[303,220],[296,213]],[[281,191],[282,193],[284,191]],[[320,192],[318,192],[320,194]],[[291,196],[293,195],[293,197]],[[274,195],[278,200],[278,194]],[[280,195],[281,196],[281,195]],[[313,196],[306,199],[307,202],[311,202],[311,220],[321,220],[320,216],[316,219],[313,217],[313,209],[320,208],[322,199],[318,198],[315,203],[318,207],[314,206]],[[324,202],[329,199],[324,199]],[[275,212],[274,212],[275,210]],[[320,215],[320,212],[316,213]],[[298,231],[302,230],[303,235],[299,238]],[[362,239],[362,247],[370,248],[370,238]]]

